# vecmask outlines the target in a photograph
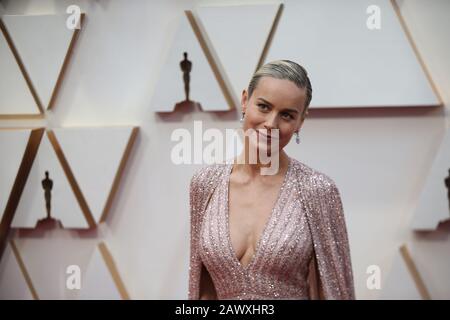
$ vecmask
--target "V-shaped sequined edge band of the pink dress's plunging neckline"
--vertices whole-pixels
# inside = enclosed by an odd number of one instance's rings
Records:
[[[256,261],[256,259],[258,257],[259,251],[261,251],[261,242],[267,236],[266,233],[267,233],[269,224],[272,222],[275,211],[278,208],[278,206],[280,205],[281,194],[283,193],[283,189],[286,185],[288,175],[291,170],[291,163],[292,163],[291,158],[288,158],[288,167],[287,167],[286,173],[284,174],[283,182],[281,183],[281,186],[278,190],[277,198],[275,200],[275,203],[272,206],[272,210],[269,214],[269,217],[267,218],[266,223],[264,224],[263,230],[262,230],[261,234],[259,235],[259,239],[256,242],[255,252],[253,253],[253,255],[252,255],[250,261],[247,263],[247,265],[243,265],[241,263],[241,261],[239,260],[237,254],[236,254],[236,251],[233,248],[233,242],[231,241],[231,228],[230,228],[230,180],[231,179],[230,179],[230,177],[231,177],[231,172],[233,169],[233,163],[229,164],[227,176],[225,179],[225,203],[226,203],[225,204],[225,227],[226,227],[226,233],[227,233],[228,248],[231,251],[231,255],[233,257],[234,263],[237,264],[237,266],[244,271],[247,271],[248,269],[250,269],[250,267],[254,264],[254,262]]]

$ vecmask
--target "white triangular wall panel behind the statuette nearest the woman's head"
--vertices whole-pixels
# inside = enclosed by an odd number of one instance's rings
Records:
[[[187,60],[191,61],[189,100],[201,105],[204,111],[226,111],[237,105],[231,86],[219,71],[217,64],[207,46],[204,32],[191,12],[180,16],[172,27],[175,34],[168,37],[171,44],[164,53],[166,60],[159,70],[158,82],[154,89],[151,106],[156,112],[171,112],[175,106],[185,100],[183,72],[180,62],[187,52]]]

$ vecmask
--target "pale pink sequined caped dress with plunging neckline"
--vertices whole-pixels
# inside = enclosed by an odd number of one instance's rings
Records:
[[[204,266],[218,299],[354,299],[343,207],[333,180],[290,158],[255,253],[242,265],[229,233],[231,170],[231,163],[214,164],[191,179],[188,298],[200,298]]]

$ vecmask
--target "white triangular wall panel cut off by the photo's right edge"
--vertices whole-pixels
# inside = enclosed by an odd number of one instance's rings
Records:
[[[450,191],[444,181],[447,177],[450,177],[450,130],[444,134],[418,199],[411,222],[414,230],[435,230],[439,223],[450,220]]]

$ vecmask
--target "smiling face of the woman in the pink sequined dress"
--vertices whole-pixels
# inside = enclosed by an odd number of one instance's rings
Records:
[[[305,101],[306,89],[297,87],[290,80],[262,77],[250,98],[244,90],[241,99],[242,111],[245,112],[243,129],[245,132],[248,129],[258,132],[258,140],[250,138],[250,144],[270,154],[271,141],[276,139],[276,130],[273,129],[278,129],[277,152],[282,150],[303,124]]]

